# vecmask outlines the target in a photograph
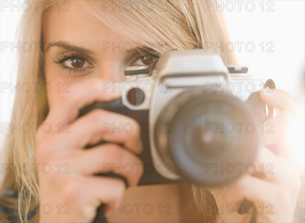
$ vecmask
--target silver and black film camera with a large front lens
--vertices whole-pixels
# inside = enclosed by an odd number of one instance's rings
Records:
[[[139,185],[214,187],[253,167],[257,127],[273,108],[258,95],[266,84],[252,78],[246,66],[226,66],[220,55],[192,49],[164,53],[149,72],[139,67],[125,73],[120,99],[96,102],[80,116],[103,108],[139,123],[144,163]]]

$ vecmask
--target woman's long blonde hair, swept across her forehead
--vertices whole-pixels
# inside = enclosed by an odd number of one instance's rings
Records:
[[[30,1],[32,2],[32,1]],[[24,12],[19,23],[18,41],[42,42],[42,5],[45,1],[38,3],[38,11],[30,10]],[[48,1],[50,2],[50,1]],[[51,3],[58,1],[51,1]],[[88,12],[98,17],[103,23],[117,33],[124,34],[131,39],[156,43],[171,43],[173,49],[204,48],[204,43],[229,42],[229,35],[221,12],[212,8],[204,8],[204,1],[191,0],[166,0],[160,5],[159,1],[149,1],[149,10],[143,8],[143,4],[134,6],[138,10],[126,12],[124,10],[104,10],[102,1],[73,1],[83,6]],[[123,1],[124,2],[124,1]],[[139,1],[128,1],[139,2]],[[145,1],[147,2],[147,1]],[[159,4],[159,5],[158,5]],[[33,4],[34,5],[34,4]],[[139,31],[140,30],[140,31]],[[159,47],[155,45],[155,49]],[[226,64],[236,63],[234,53],[222,51],[219,53]],[[21,51],[18,56],[17,83],[45,82],[43,50]],[[40,89],[40,88],[38,88]],[[42,123],[48,113],[46,93],[38,92],[16,93],[11,123]],[[13,131],[8,135],[4,144],[7,160],[14,166],[36,163],[35,132],[18,133]],[[6,174],[3,187],[14,186],[18,192],[18,205],[31,202],[39,203],[39,182],[37,174],[31,171],[25,174],[22,171],[10,171]],[[194,201],[202,209],[207,199],[215,202],[214,198],[201,187],[192,186]],[[208,202],[211,202],[210,200]],[[29,206],[25,213],[28,213]],[[27,214],[18,211],[21,222],[27,221]],[[208,222],[216,221],[216,216],[205,214]]]

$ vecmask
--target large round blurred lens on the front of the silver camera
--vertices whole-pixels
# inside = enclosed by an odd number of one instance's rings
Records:
[[[233,95],[182,92],[160,114],[157,122],[170,122],[172,131],[155,132],[157,150],[188,181],[222,185],[253,161],[258,146],[255,117]]]

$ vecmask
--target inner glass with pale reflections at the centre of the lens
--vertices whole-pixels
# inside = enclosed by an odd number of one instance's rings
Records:
[[[194,107],[189,111],[185,123],[185,146],[204,156],[216,156],[218,159],[220,155],[229,152],[228,145],[236,147],[240,141],[236,123],[245,121],[240,120],[241,115],[240,110],[220,101],[209,101]]]

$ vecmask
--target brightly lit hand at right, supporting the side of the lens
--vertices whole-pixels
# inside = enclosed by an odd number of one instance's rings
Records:
[[[301,169],[290,156],[287,125],[295,113],[295,104],[286,92],[280,90],[260,92],[260,96],[267,105],[279,108],[281,113],[265,122],[264,126],[273,123],[274,128],[273,133],[265,131],[262,134],[254,162],[255,172],[241,176],[226,187],[209,189],[224,222],[250,222],[252,205],[245,214],[237,212],[238,205],[245,199],[254,205],[256,222],[293,221]]]

